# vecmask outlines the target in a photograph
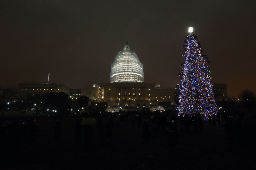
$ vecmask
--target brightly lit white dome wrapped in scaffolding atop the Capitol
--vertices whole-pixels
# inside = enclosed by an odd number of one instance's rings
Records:
[[[128,43],[111,64],[110,82],[143,82],[143,65]]]

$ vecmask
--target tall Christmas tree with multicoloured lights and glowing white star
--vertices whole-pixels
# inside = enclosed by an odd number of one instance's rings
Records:
[[[184,44],[185,54],[183,55],[182,71],[179,73],[180,84],[178,89],[178,111],[179,114],[207,115],[217,114],[218,109],[213,93],[209,67],[210,61],[202,54],[202,48],[197,41],[197,36],[190,34],[186,37]]]

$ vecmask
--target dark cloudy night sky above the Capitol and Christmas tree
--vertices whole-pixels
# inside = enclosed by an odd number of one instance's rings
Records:
[[[145,82],[175,87],[188,27],[213,83],[256,92],[256,0],[0,0],[0,84],[110,82],[128,41]]]

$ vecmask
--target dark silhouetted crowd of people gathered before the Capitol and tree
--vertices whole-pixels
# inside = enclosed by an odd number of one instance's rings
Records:
[[[126,127],[141,129],[141,143],[145,147],[150,145],[150,139],[158,138],[159,134],[167,136],[166,145],[170,146],[170,153],[175,154],[179,138],[188,133],[203,133],[204,123],[207,121],[212,126],[222,126],[227,135],[227,139],[232,148],[245,147],[247,154],[252,161],[256,158],[255,134],[256,134],[256,114],[222,114],[203,117],[201,114],[181,114],[174,112],[152,112],[151,115],[143,112],[115,113],[93,116],[96,119],[95,124],[82,125],[82,121],[92,118],[90,115],[76,117],[74,123],[74,144],[80,145],[84,153],[93,152],[92,139],[97,138],[98,147],[110,146],[112,144],[113,128],[119,128],[123,124],[130,124]],[[55,140],[61,140],[61,121],[63,116],[55,116]],[[221,124],[220,124],[221,123]],[[10,124],[8,120],[2,120],[0,126],[0,147],[2,151],[9,153],[9,157],[18,159],[21,151],[21,140],[27,140],[27,153],[33,151],[33,141],[37,139],[37,133],[40,132],[37,119],[26,118],[24,120],[13,121]],[[96,127],[96,128],[95,128]],[[96,131],[97,136],[94,136]],[[82,143],[83,142],[83,143]],[[7,147],[6,147],[7,146]],[[3,156],[2,156],[3,158]]]

